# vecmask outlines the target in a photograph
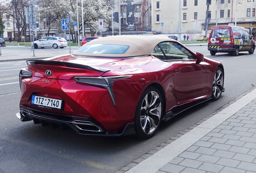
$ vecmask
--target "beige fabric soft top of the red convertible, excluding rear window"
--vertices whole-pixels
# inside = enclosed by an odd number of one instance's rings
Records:
[[[128,45],[130,48],[124,54],[98,54],[98,53],[84,53],[75,51],[74,55],[82,56],[103,56],[103,57],[133,57],[150,55],[153,48],[160,42],[174,41],[174,39],[165,36],[138,36],[138,35],[124,35],[124,36],[107,36],[94,39],[86,44],[119,44]],[[78,49],[79,50],[79,49]]]

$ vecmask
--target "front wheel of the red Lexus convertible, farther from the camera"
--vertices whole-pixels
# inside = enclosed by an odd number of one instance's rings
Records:
[[[219,100],[223,91],[224,74],[221,68],[217,68],[213,77],[212,99]]]

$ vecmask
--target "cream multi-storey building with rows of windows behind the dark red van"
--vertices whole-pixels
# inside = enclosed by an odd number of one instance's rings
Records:
[[[178,34],[179,17],[181,34],[204,34],[207,22],[208,33],[216,24],[235,25],[235,16],[237,26],[248,28],[253,34],[256,30],[255,0],[152,0],[151,3],[151,30],[164,34]]]

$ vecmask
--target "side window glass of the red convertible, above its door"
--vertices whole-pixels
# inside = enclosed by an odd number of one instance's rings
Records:
[[[158,53],[156,53],[158,52]],[[182,45],[175,42],[159,43],[151,53],[161,60],[194,60],[195,57]]]

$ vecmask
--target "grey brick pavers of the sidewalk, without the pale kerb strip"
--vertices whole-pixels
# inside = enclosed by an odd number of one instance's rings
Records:
[[[256,173],[256,98],[157,173]]]

